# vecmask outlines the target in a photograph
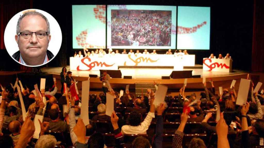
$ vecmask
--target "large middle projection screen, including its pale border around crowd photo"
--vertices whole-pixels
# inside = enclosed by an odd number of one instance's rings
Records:
[[[175,49],[176,6],[108,5],[107,48]]]

